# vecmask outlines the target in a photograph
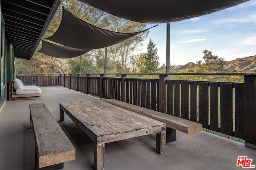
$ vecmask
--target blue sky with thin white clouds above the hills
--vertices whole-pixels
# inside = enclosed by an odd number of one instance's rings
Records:
[[[150,37],[158,48],[160,64],[166,63],[166,23],[150,29],[141,53],[146,52]],[[170,44],[170,62],[175,65],[196,63],[204,49],[226,61],[256,55],[256,0],[172,22]]]

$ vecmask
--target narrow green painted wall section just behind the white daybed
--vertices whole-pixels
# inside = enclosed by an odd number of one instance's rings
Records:
[[[6,43],[6,81],[11,83],[14,79],[14,53],[12,44]]]

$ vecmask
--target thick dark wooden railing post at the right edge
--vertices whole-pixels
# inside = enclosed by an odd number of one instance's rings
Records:
[[[256,76],[244,76],[245,147],[256,150]]]

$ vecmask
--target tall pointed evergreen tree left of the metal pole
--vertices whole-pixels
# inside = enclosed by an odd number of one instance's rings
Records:
[[[150,38],[147,46],[147,53],[143,55],[142,65],[145,67],[142,68],[141,72],[144,73],[152,73],[156,72],[159,66],[158,55],[157,55],[157,47],[153,40]]]

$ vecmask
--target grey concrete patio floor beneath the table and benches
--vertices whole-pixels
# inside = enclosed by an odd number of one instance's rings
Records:
[[[30,129],[30,103],[44,102],[59,120],[59,103],[98,100],[63,87],[40,87],[42,98],[6,101],[0,111],[0,170],[34,169],[35,142]],[[65,162],[64,170],[92,170],[94,143],[68,116],[60,126],[76,148],[76,160]],[[184,134],[166,144],[157,154],[155,135],[126,139],[105,146],[105,170],[239,170],[238,156],[248,156],[256,165],[256,151],[244,144],[207,132]]]

